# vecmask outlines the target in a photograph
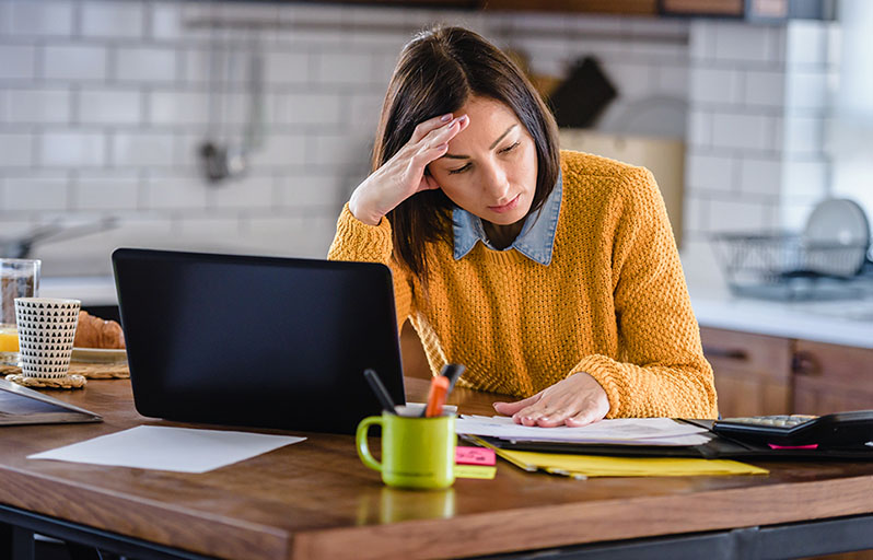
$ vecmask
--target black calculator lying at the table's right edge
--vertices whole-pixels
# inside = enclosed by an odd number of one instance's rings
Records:
[[[712,424],[721,436],[745,443],[799,447],[866,446],[873,453],[873,410],[825,416],[779,415],[724,418]]]

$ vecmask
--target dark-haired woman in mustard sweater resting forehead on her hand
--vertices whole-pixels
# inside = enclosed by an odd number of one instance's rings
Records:
[[[560,152],[493,45],[438,27],[404,48],[373,170],[328,258],[391,267],[433,372],[463,363],[458,385],[523,397],[494,409],[524,425],[718,416],[651,173]]]

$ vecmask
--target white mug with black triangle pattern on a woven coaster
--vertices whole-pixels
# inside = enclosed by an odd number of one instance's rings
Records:
[[[15,298],[21,373],[57,380],[67,375],[79,323],[79,300]]]

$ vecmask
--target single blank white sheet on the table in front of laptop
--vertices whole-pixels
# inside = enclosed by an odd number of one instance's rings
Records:
[[[27,458],[207,472],[303,440],[290,435],[139,425]]]

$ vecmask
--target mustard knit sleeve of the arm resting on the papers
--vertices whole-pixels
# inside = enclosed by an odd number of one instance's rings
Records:
[[[629,168],[615,200],[618,355],[585,357],[571,373],[586,372],[603,386],[607,418],[717,418],[712,368],[654,177]]]

